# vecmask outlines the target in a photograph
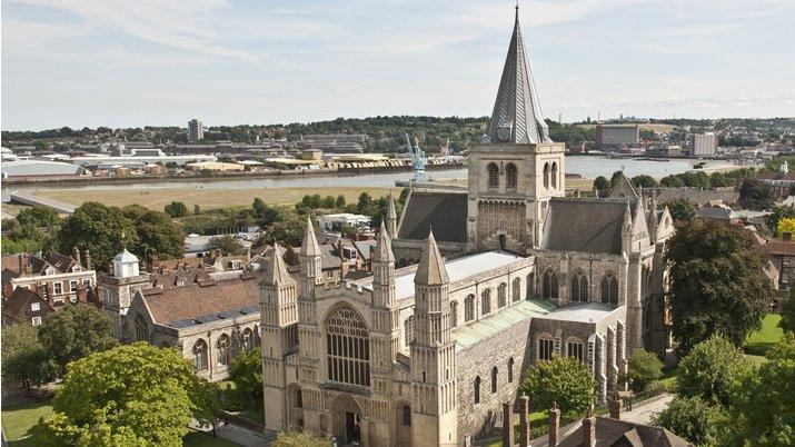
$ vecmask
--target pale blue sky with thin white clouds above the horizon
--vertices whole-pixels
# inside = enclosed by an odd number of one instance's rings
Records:
[[[506,0],[3,0],[3,130],[488,116]],[[535,0],[564,122],[795,116],[793,0]]]

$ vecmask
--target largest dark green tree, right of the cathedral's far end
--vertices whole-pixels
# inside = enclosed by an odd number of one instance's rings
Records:
[[[772,296],[765,261],[736,227],[692,221],[666,254],[673,331],[683,352],[714,334],[741,346],[761,327]]]

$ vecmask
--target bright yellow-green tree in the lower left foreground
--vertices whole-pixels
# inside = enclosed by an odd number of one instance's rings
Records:
[[[137,342],[96,352],[69,365],[39,440],[181,446],[191,417],[206,414],[208,389],[177,349]]]

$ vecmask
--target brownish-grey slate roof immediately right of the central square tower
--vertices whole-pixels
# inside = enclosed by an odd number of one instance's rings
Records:
[[[636,205],[629,202],[633,213]],[[619,255],[626,208],[627,201],[622,199],[553,198],[541,248]]]

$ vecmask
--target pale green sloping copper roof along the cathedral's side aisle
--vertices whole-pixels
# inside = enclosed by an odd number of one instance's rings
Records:
[[[557,306],[549,301],[527,299],[491,314],[480,321],[454,329],[453,338],[456,340],[456,350],[468,349],[483,340],[499,335],[517,322],[547,315],[556,308]]]

